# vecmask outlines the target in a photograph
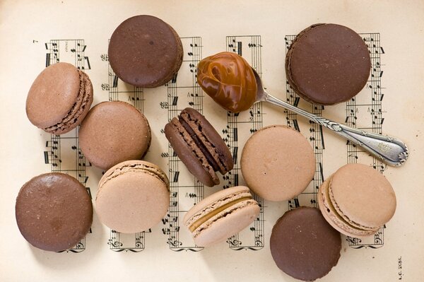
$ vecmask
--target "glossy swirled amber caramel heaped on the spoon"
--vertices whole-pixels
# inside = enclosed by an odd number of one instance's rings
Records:
[[[257,98],[252,68],[238,54],[221,52],[207,57],[197,66],[197,82],[225,110],[248,110]]]

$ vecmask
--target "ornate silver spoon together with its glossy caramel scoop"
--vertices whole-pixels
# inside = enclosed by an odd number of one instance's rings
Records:
[[[389,165],[403,165],[408,158],[408,147],[399,139],[348,127],[273,97],[262,86],[259,74],[238,54],[221,52],[201,60],[197,82],[218,105],[230,112],[248,110],[254,102],[270,102],[330,129]]]

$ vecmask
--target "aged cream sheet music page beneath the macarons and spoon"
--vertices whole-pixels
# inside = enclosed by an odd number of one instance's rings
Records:
[[[115,76],[107,58],[110,36],[123,20],[150,14],[181,37],[184,59],[165,86],[143,89]],[[372,61],[365,88],[349,102],[319,106],[289,88],[284,62],[290,43],[313,23],[338,23],[363,37]],[[295,281],[274,264],[269,237],[276,220],[298,206],[317,206],[317,188],[346,163],[371,165],[396,192],[394,218],[363,240],[342,235],[338,264],[320,281],[423,281],[424,276],[424,2],[423,1],[0,1],[1,281]],[[269,93],[302,109],[378,134],[396,136],[410,156],[400,168],[385,165],[361,148],[266,102],[231,114],[196,83],[196,65],[218,52],[236,52],[260,74]],[[54,136],[37,129],[25,114],[28,90],[37,74],[59,61],[88,74],[93,105],[131,103],[146,115],[152,144],[145,160],[170,178],[170,208],[151,230],[120,234],[94,215],[90,233],[66,252],[44,252],[20,235],[14,207],[22,185],[45,172],[64,172],[95,199],[102,170],[88,163],[78,130]],[[185,107],[213,124],[237,160],[216,187],[196,182],[169,146],[163,128]],[[194,245],[182,217],[226,187],[245,184],[242,148],[255,131],[285,124],[314,148],[316,172],[305,192],[290,201],[264,201],[257,221],[228,239]],[[266,145],[265,145],[266,146]]]

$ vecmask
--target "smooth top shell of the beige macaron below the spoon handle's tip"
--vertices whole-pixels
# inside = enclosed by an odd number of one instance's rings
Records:
[[[389,181],[373,168],[348,164],[339,168],[329,186],[331,203],[351,225],[379,228],[396,211],[396,195]]]

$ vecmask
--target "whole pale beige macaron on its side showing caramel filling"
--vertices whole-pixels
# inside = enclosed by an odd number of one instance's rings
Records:
[[[187,211],[184,225],[198,246],[208,247],[227,240],[259,216],[259,205],[249,188],[231,187],[211,194]]]

